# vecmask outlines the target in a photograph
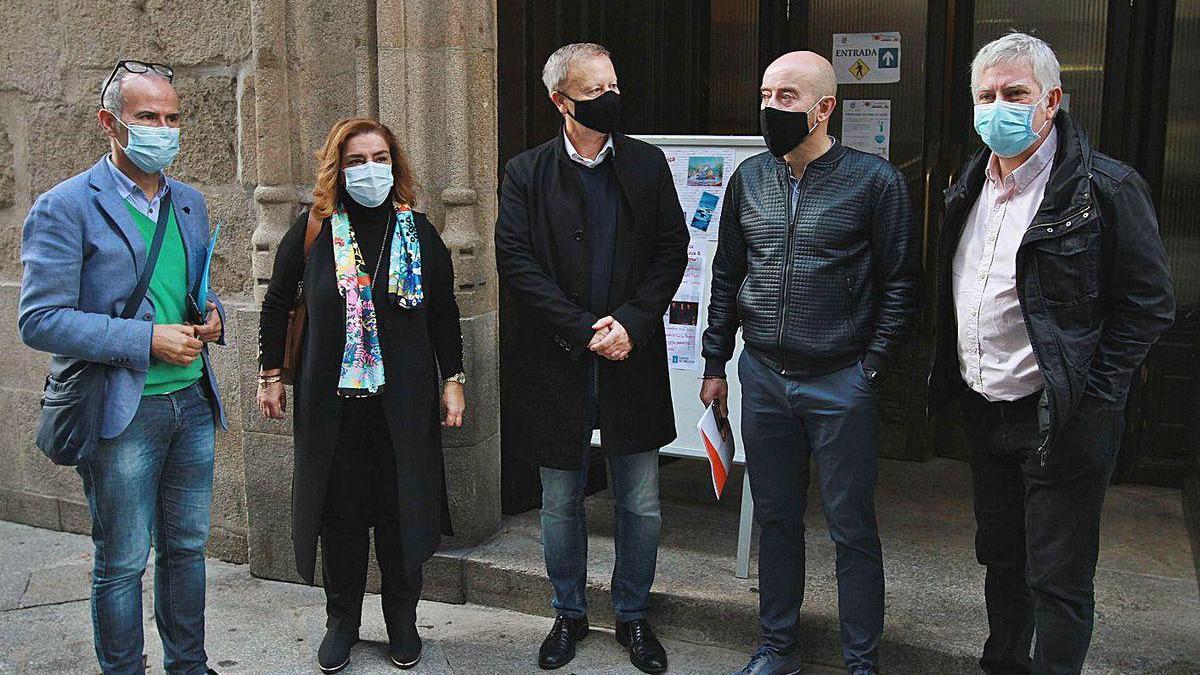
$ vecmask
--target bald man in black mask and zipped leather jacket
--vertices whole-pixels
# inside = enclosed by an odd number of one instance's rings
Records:
[[[835,94],[833,67],[817,54],[786,54],[767,68],[770,153],[731,178],[713,263],[701,399],[725,406],[740,325],[742,435],[762,526],[762,646],[746,675],[800,668],[810,458],[838,548],[842,655],[851,673],[877,673],[874,378],[912,329],[919,263],[904,177],[827,135]]]

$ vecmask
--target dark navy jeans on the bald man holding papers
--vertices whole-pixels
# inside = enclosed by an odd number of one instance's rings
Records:
[[[874,671],[883,634],[883,554],[875,524],[875,392],[862,364],[788,378],[743,353],[742,437],[758,539],[758,617],[764,645],[791,651],[804,602],[809,460],[838,550],[838,615],[851,673]]]

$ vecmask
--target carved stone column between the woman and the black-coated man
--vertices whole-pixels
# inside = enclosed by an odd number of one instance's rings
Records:
[[[455,537],[499,525],[496,263],[496,12],[492,0],[379,0],[379,119],[400,136],[420,184],[418,209],[455,264],[467,363],[467,414],[443,438]]]

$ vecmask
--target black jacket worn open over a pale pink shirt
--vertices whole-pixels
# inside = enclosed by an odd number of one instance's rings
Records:
[[[1075,414],[1121,410],[1134,371],[1175,321],[1166,251],[1146,181],[1093,151],[1066,112],[1055,119],[1058,151],[1042,205],[1016,251],[1016,294],[1038,369],[1042,459]],[[946,191],[937,249],[937,310],[929,411],[937,414],[966,383],[959,371],[952,264],[991,153],[983,148]]]

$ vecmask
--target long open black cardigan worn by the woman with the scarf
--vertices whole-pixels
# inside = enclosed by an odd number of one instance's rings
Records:
[[[355,222],[353,211],[350,215],[355,237],[362,243],[364,262],[373,271],[386,232],[379,223],[385,221],[364,220],[360,214]],[[307,264],[304,262],[307,220],[307,213],[300,214],[280,243],[263,301],[259,336],[263,365],[278,366],[288,310],[304,279],[308,318],[293,389],[292,540],[296,569],[312,581],[325,488],[344,401],[337,395],[337,378],[346,345],[346,301],[337,291],[329,219],[322,223]],[[374,287],[386,375],[386,383],[378,393],[384,414],[380,423],[386,424],[396,456],[401,550],[408,572],[419,569],[437,550],[440,536],[451,531],[442,460],[438,371],[445,377],[463,369],[450,251],[424,214],[414,213],[414,223],[421,246],[425,304],[400,309],[386,300],[382,280]]]

